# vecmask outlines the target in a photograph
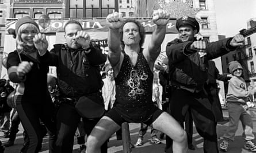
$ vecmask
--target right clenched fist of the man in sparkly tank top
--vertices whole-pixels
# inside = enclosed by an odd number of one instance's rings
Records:
[[[152,21],[158,26],[165,26],[170,20],[170,14],[165,10],[154,10]]]

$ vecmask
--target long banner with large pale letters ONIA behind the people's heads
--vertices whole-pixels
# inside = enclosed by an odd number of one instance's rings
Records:
[[[151,18],[135,18],[145,28],[146,33],[152,33],[156,27],[155,23],[151,21]],[[51,21],[47,24],[48,27],[42,28],[40,26],[40,31],[44,33],[56,33],[56,32],[64,32],[64,26],[69,19],[51,19]],[[83,30],[87,30],[87,32],[108,32],[108,23],[106,19],[76,19],[79,21],[83,27]],[[38,20],[35,20],[37,23]],[[12,28],[15,29],[15,24],[17,19],[7,19],[6,21],[6,32],[8,29]],[[169,23],[166,26],[166,33],[178,33],[175,28],[175,19],[170,19]],[[39,23],[40,25],[40,23]],[[44,24],[45,25],[45,24]]]

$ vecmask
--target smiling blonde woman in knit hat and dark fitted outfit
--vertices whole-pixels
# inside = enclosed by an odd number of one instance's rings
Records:
[[[14,99],[29,139],[24,152],[40,151],[44,134],[39,119],[48,129],[49,152],[53,152],[55,124],[52,121],[54,107],[47,89],[48,66],[37,60],[38,50],[48,44],[40,39],[33,41],[35,37],[43,40],[45,36],[39,33],[39,26],[30,17],[19,19],[15,32],[17,49],[7,57],[7,71],[9,79],[19,84]]]

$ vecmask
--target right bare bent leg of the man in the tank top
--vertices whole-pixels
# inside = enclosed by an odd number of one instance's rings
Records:
[[[153,128],[159,130],[173,139],[173,152],[188,152],[187,136],[184,129],[168,113],[163,112],[152,123]]]

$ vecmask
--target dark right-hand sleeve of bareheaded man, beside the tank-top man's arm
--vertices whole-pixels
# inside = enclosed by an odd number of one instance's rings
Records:
[[[87,53],[91,65],[101,65],[106,62],[106,55],[101,52],[98,46],[90,45],[91,51]]]

